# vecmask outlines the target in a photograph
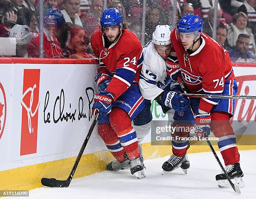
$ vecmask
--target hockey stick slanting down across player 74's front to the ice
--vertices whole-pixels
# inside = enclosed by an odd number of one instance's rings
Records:
[[[184,86],[184,84],[183,84],[181,78],[178,76],[177,79],[178,79],[179,85],[180,85],[180,87],[182,88],[184,94],[187,94],[186,88],[185,88],[185,86]],[[189,95],[190,95],[190,94],[189,94]],[[192,111],[192,113],[193,113],[193,115],[194,115],[194,117],[195,117],[195,116],[196,116],[196,113],[195,113],[194,107],[193,107],[191,104],[189,104],[189,106],[190,106],[190,109],[191,109],[191,111]],[[204,137],[208,137],[206,133],[204,134]],[[241,192],[240,192],[239,186],[233,184],[233,182],[230,180],[230,177],[228,176],[227,172],[225,171],[223,165],[221,164],[220,159],[219,159],[218,155],[216,154],[215,150],[213,149],[211,142],[210,142],[208,139],[206,139],[206,142],[207,142],[207,144],[209,145],[209,147],[210,147],[210,149],[211,149],[211,151],[212,151],[212,153],[213,153],[215,159],[217,160],[218,164],[220,165],[220,168],[222,169],[223,173],[225,174],[225,177],[228,179],[228,182],[230,183],[231,187],[234,189],[235,192],[237,192],[238,194],[240,194]]]

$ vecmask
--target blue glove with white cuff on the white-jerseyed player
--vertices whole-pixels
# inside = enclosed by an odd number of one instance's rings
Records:
[[[184,111],[189,109],[189,99],[182,94],[170,91],[164,92],[161,103],[175,111]]]

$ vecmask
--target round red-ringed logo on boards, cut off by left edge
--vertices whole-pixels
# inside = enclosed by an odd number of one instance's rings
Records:
[[[5,129],[6,120],[6,97],[3,85],[0,82],[0,139]]]

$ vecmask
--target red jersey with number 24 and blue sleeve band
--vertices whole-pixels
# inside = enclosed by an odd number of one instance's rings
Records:
[[[100,59],[99,73],[113,76],[107,91],[112,92],[116,100],[132,84],[138,82],[142,64],[142,47],[138,37],[124,29],[119,39],[105,47],[101,30],[96,30],[91,37],[94,54]]]

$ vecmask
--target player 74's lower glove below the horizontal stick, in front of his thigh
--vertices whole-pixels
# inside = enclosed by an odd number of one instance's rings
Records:
[[[196,129],[198,138],[208,137],[210,135],[210,123],[212,116],[209,114],[198,114],[195,116]]]

